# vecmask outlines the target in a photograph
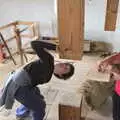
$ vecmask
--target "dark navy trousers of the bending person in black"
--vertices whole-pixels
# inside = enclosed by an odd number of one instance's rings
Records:
[[[37,87],[20,87],[15,99],[33,112],[33,120],[43,120],[45,115],[46,103]]]

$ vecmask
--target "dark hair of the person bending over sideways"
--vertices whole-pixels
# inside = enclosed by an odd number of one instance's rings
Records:
[[[67,80],[74,74],[74,66],[70,63],[65,63],[66,65],[70,66],[70,71],[68,73],[63,74],[62,76],[59,76],[58,74],[54,73],[54,75],[59,79]]]

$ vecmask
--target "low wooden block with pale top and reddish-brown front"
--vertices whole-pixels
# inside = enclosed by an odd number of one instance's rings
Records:
[[[59,103],[59,120],[84,120],[81,117],[82,100],[80,94],[64,94]]]

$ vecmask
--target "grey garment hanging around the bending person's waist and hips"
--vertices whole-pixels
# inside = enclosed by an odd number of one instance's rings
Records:
[[[3,87],[0,97],[0,106],[4,105],[6,109],[12,109],[16,91],[19,87],[26,85],[31,85],[31,79],[24,69],[18,69],[10,74]]]

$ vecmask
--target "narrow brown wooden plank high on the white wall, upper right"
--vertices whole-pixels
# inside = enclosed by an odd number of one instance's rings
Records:
[[[107,0],[105,31],[115,31],[119,0]]]

